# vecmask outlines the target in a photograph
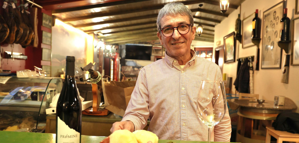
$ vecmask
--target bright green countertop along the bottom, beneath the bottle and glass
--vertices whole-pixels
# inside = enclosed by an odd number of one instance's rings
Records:
[[[0,131],[1,143],[55,143],[56,134],[48,133],[30,133],[30,132],[15,132],[15,131]],[[81,136],[81,143],[99,143],[106,137],[99,136]],[[174,141],[174,140],[159,140],[159,143],[207,143],[207,141]]]

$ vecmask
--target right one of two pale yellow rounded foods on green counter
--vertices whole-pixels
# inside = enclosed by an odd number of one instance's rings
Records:
[[[138,143],[158,143],[156,134],[146,130],[136,130],[133,132]]]

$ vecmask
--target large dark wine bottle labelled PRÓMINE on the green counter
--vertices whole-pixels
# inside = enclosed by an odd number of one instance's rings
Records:
[[[75,80],[75,57],[66,56],[66,75],[56,106],[56,143],[81,142],[82,106]]]

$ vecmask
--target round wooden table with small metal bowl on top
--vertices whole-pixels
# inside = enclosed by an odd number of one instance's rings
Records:
[[[237,124],[236,142],[243,143],[265,143],[265,131],[254,130],[254,120],[268,121],[268,126],[281,112],[296,111],[296,104],[289,98],[285,98],[284,106],[274,105],[274,101],[266,100],[258,104],[255,100],[227,99],[231,109],[237,110],[239,121]],[[260,126],[261,127],[261,126]]]

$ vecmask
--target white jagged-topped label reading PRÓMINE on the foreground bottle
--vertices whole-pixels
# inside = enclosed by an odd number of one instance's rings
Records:
[[[80,143],[80,133],[69,128],[59,117],[57,120],[57,143]]]

